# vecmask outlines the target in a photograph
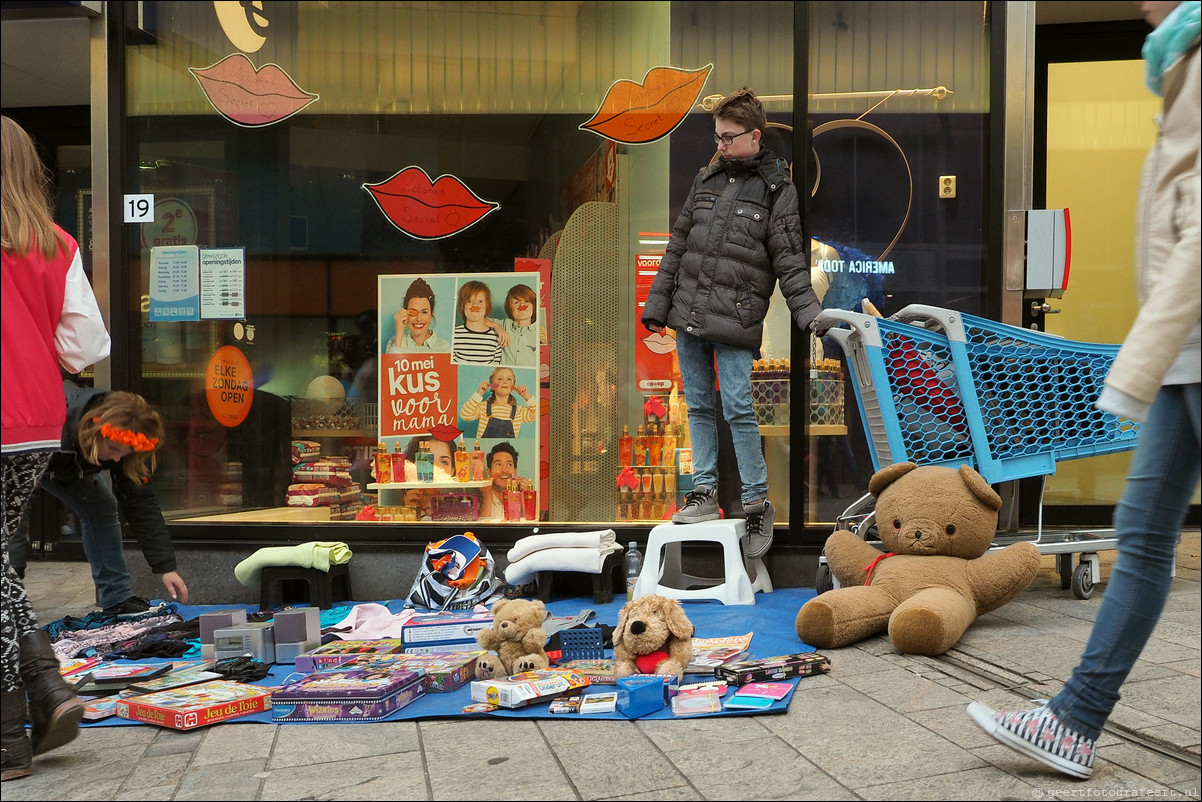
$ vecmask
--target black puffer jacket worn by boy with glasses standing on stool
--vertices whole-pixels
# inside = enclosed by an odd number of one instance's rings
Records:
[[[718,161],[697,174],[642,322],[756,350],[778,280],[793,320],[809,327],[822,304],[810,286],[797,188],[789,164],[763,148],[751,159]]]

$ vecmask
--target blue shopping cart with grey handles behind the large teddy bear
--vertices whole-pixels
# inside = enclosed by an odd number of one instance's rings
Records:
[[[1057,556],[1064,589],[1093,595],[1097,552],[1113,529],[1046,533],[1043,491],[1057,463],[1135,448],[1138,424],[1094,408],[1117,345],[1081,343],[964,313],[915,304],[892,317],[827,309],[819,315],[847,357],[873,467],[897,462],[971,465],[990,485],[1042,477],[1035,537]],[[874,499],[864,495],[837,525],[873,539]],[[1072,556],[1079,562],[1073,566]],[[820,559],[819,593],[834,586]]]

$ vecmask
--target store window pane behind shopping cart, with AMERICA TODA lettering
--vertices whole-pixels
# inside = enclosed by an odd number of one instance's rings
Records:
[[[810,4],[805,180],[823,308],[983,314],[990,5]],[[857,396],[834,337],[808,363],[807,521],[834,521],[870,509],[868,479],[892,462],[865,411],[889,387],[869,378]]]

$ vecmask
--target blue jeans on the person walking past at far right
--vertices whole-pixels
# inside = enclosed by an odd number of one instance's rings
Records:
[[[1177,542],[1198,482],[1198,388],[1196,384],[1161,387],[1139,426],[1126,487],[1114,510],[1118,558],[1081,661],[1048,703],[1087,738],[1101,733],[1165,608]]]

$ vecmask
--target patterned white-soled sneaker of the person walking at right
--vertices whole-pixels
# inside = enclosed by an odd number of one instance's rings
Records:
[[[981,702],[969,715],[982,730],[1028,758],[1081,779],[1094,773],[1094,739],[1060,723],[1047,705],[1022,713],[1001,713]]]

